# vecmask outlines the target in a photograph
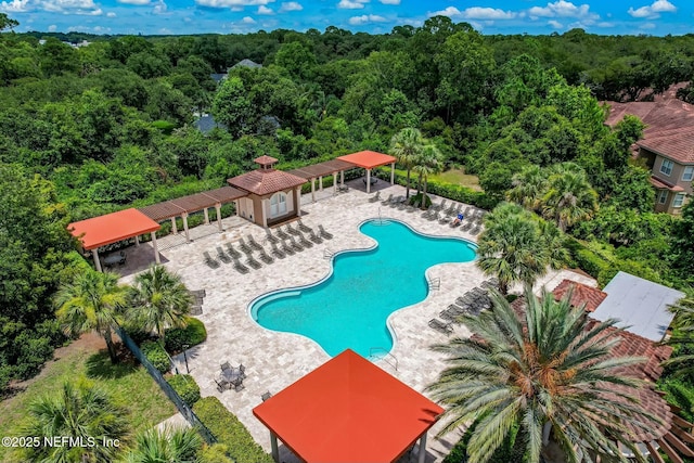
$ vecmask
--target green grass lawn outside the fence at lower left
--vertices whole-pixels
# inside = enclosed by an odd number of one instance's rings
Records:
[[[37,397],[56,393],[65,380],[87,378],[102,387],[126,412],[131,433],[151,427],[177,412],[146,370],[127,359],[111,364],[102,350],[103,340],[88,335],[56,350],[57,360],[46,364],[41,373],[20,385],[21,393],[0,402],[0,429],[3,436],[20,436],[27,406]],[[124,357],[124,356],[121,356]],[[12,461],[8,449],[0,446],[0,461]]]

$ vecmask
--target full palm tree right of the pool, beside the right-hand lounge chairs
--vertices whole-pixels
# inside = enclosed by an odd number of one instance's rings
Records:
[[[512,203],[502,203],[487,215],[477,246],[477,267],[499,279],[502,294],[515,282],[532,285],[554,255],[543,249],[538,219]]]

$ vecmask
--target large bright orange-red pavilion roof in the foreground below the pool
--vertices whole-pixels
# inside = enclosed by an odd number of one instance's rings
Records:
[[[444,409],[345,350],[253,414],[306,462],[393,462]]]

